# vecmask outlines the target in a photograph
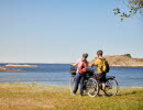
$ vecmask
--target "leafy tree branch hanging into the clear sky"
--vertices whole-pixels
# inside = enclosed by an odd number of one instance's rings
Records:
[[[129,0],[123,2],[128,8],[129,12],[121,11],[121,9],[113,9],[114,15],[120,15],[120,20],[123,21],[124,18],[131,18],[134,14],[139,14],[143,18],[143,0]]]

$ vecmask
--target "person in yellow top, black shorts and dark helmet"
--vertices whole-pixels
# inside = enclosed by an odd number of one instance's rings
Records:
[[[103,66],[103,58],[102,57],[102,51],[98,51],[97,52],[97,57],[96,57],[96,61],[94,63],[95,66],[97,66],[97,79],[98,79],[98,82],[99,82],[99,87],[102,86],[102,90],[105,92],[105,95],[107,96],[106,94],[106,73],[102,70],[102,66]]]

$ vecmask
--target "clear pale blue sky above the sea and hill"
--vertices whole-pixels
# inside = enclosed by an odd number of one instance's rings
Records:
[[[0,63],[74,63],[88,53],[143,58],[143,21],[122,0],[0,0]]]

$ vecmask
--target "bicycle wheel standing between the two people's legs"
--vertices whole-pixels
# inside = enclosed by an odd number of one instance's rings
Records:
[[[88,96],[95,97],[98,94],[98,82],[94,78],[89,78],[86,84]]]

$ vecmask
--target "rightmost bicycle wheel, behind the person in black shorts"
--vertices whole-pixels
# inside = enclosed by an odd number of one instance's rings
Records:
[[[108,96],[116,96],[118,94],[118,82],[116,79],[107,79],[106,94]]]

